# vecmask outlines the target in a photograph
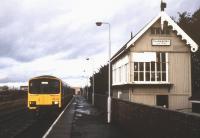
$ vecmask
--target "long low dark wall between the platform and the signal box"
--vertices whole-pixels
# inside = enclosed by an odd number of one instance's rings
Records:
[[[95,95],[106,112],[107,96]],[[137,138],[200,138],[200,115],[112,99],[112,123]]]

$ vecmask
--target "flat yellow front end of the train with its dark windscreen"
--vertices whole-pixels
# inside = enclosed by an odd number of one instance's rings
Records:
[[[29,80],[28,108],[61,108],[62,82],[57,78],[38,77]]]

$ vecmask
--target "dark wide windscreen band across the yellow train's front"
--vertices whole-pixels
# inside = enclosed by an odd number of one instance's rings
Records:
[[[34,79],[29,82],[29,93],[57,94],[60,92],[60,81],[55,79]]]

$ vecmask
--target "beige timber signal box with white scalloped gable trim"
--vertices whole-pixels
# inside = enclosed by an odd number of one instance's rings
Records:
[[[191,108],[191,52],[197,50],[198,45],[161,11],[112,57],[113,97]]]

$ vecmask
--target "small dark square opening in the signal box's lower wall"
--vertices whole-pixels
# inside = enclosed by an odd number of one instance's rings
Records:
[[[168,108],[168,95],[157,95],[156,105]]]

